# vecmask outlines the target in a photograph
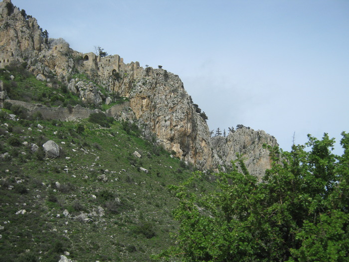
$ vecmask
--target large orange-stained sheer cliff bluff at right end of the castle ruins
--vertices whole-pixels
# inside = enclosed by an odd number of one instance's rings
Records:
[[[139,122],[150,130],[167,150],[199,168],[212,164],[210,134],[206,122],[195,112],[183,83],[163,69],[149,70],[134,79],[130,104]]]

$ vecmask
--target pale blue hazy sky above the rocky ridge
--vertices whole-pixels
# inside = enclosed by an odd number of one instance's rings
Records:
[[[349,132],[349,0],[12,0],[82,53],[177,74],[210,130],[264,130],[283,150]]]

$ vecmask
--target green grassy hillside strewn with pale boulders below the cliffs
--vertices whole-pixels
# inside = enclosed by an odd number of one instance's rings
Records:
[[[10,92],[23,97],[28,78],[16,76]],[[42,85],[32,80],[30,97]],[[54,91],[60,96],[57,90],[63,89],[47,89],[47,97]],[[105,128],[88,119],[43,121],[6,107],[0,109],[1,261],[57,262],[64,252],[74,261],[150,261],[174,245],[177,199],[167,186],[188,178],[190,165],[127,122]],[[11,120],[12,113],[17,116]],[[61,147],[59,158],[45,157],[48,140]],[[210,187],[207,177],[193,190]]]

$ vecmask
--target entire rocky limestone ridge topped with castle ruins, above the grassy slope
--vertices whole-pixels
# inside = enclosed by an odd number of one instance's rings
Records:
[[[122,110],[110,109],[106,113],[136,122],[144,136],[156,136],[159,144],[199,169],[227,165],[235,152],[247,157],[249,170],[257,176],[268,167],[269,157],[261,144],[276,143],[275,139],[266,138],[263,131],[239,130],[224,141],[211,141],[205,120],[177,75],[162,68],[140,67],[139,62],[126,64],[119,55],[80,53],[61,38],[47,39],[36,19],[10,0],[0,3],[0,61],[0,68],[26,63],[27,69],[47,85],[53,78],[62,81],[86,105],[109,103],[111,94],[128,97],[130,103]]]

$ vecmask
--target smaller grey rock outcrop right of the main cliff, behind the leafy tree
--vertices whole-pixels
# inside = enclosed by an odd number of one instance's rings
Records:
[[[251,175],[261,179],[266,169],[271,167],[269,151],[263,148],[263,144],[277,146],[275,137],[263,130],[255,131],[246,127],[230,132],[225,137],[212,137],[213,150],[222,159],[223,163],[230,165],[236,160],[236,153],[244,158],[244,163]]]

